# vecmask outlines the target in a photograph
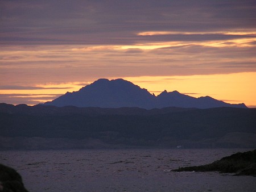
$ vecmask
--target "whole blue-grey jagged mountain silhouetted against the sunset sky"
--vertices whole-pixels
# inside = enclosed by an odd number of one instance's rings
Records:
[[[146,89],[134,85],[133,83],[117,79],[100,79],[90,85],[82,87],[79,91],[67,92],[59,98],[44,105],[57,107],[139,107],[139,108],[163,108],[163,107],[183,107],[183,108],[214,108],[214,107],[238,107],[246,108],[245,104],[229,104],[218,101],[211,97],[190,97],[178,91],[167,92],[164,90],[157,97],[150,94]]]

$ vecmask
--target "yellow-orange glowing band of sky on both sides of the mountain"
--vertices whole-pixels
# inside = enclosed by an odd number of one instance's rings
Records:
[[[133,84],[147,89],[151,94],[159,95],[162,91],[177,90],[191,97],[210,96],[228,103],[245,103],[246,106],[256,106],[256,72],[232,73],[232,74],[210,74],[193,76],[143,76],[143,77],[113,77],[109,80],[123,78]],[[63,84],[36,85],[47,89],[36,90],[0,90],[0,94],[31,94],[30,101],[38,103],[52,101],[52,97],[67,93],[67,91],[78,91],[81,87],[91,82],[68,82]],[[49,89],[51,88],[52,89]],[[54,89],[57,87],[58,89]],[[62,89],[60,89],[62,88]],[[26,96],[11,96],[24,98]],[[44,97],[43,99],[41,97]],[[49,99],[47,99],[49,97]],[[37,99],[38,98],[38,99]],[[20,103],[15,103],[20,104]],[[29,103],[26,103],[29,105]]]

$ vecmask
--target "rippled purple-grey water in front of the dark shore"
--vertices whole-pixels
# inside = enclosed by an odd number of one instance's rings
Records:
[[[256,191],[256,178],[170,172],[248,149],[1,151],[29,191]]]

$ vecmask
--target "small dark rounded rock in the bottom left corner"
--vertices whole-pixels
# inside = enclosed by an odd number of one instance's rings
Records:
[[[22,177],[13,168],[0,164],[0,191],[28,192],[22,182]]]

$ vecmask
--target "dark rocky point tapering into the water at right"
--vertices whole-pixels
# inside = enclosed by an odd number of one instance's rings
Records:
[[[201,166],[188,166],[174,169],[174,172],[221,172],[235,173],[235,176],[256,177],[256,149],[244,153],[236,153],[211,164]]]

